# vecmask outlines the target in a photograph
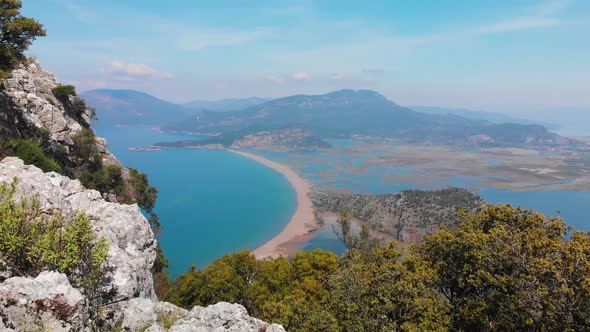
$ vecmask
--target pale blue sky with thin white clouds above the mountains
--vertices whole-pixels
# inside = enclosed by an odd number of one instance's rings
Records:
[[[372,89],[402,105],[590,110],[587,0],[25,0],[78,90],[173,102]]]

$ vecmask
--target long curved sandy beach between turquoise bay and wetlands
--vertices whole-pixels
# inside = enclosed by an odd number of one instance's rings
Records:
[[[255,160],[281,173],[287,181],[289,181],[297,194],[297,209],[287,226],[268,242],[256,248],[252,253],[259,259],[294,254],[298,250],[294,244],[296,242],[305,241],[309,238],[310,232],[318,227],[314,215],[313,203],[309,198],[309,193],[312,189],[311,185],[307,180],[303,179],[297,174],[297,172],[293,171],[288,166],[268,160],[253,153],[236,150],[230,151]]]

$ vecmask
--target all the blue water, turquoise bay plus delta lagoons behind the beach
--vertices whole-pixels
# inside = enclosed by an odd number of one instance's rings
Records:
[[[146,173],[150,183],[158,189],[155,212],[163,226],[158,240],[169,260],[172,277],[191,266],[202,268],[225,254],[255,249],[279,233],[295,211],[295,192],[287,180],[276,171],[246,157],[223,150],[129,150],[130,147],[145,147],[157,142],[202,137],[163,133],[148,127],[98,126],[94,129],[107,140],[111,152],[125,166]],[[335,148],[355,144],[353,141],[330,143]],[[335,177],[343,163],[354,166],[361,165],[364,160],[350,160],[350,157],[332,151],[251,152],[295,167],[318,188],[390,193],[424,185],[412,181],[397,181],[394,184],[383,181],[384,174],[406,174],[412,166],[394,169],[377,167],[361,174]],[[330,158],[331,162],[319,162],[326,158]],[[489,203],[509,203],[548,216],[559,215],[575,230],[590,231],[590,192],[516,192],[482,185],[473,188],[475,182],[477,178],[454,176],[449,183],[440,185],[477,189],[477,193]],[[298,245],[302,250],[321,248],[338,254],[345,250],[330,224]]]

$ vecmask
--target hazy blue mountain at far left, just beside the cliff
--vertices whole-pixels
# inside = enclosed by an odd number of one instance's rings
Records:
[[[95,122],[100,125],[157,126],[192,114],[180,105],[135,90],[91,90],[82,97],[96,108]]]

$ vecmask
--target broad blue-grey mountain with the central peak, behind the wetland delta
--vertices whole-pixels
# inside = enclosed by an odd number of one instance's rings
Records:
[[[426,114],[402,107],[375,91],[339,90],[296,95],[241,111],[200,112],[163,130],[239,136],[281,128],[311,130],[320,137],[352,135],[410,143],[495,146],[561,145],[571,140],[535,124],[496,124],[453,114]],[[238,135],[239,134],[239,135]]]

